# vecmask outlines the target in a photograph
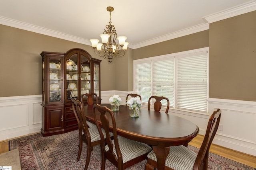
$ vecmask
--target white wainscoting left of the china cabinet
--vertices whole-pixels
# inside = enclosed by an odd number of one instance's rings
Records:
[[[0,98],[0,141],[40,132],[42,95]]]

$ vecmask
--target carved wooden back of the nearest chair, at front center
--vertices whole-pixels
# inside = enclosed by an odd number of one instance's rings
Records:
[[[102,129],[100,128],[100,125],[98,121],[96,122],[96,126],[98,127],[98,130],[100,132],[100,140],[101,140],[101,149],[104,151],[104,155],[112,164],[118,167],[118,164],[123,164],[123,158],[122,158],[122,153],[118,144],[118,138],[117,138],[117,131],[116,131],[116,121],[114,118],[113,112],[108,109],[106,106],[100,106],[99,104],[93,106],[93,113],[94,113],[94,120],[97,120],[97,115],[96,115],[96,110],[100,112],[100,121],[102,123],[102,128],[106,132],[106,141],[104,141],[104,136],[102,133]],[[110,120],[109,120],[110,119]],[[110,138],[110,127],[109,127],[109,122],[112,122],[112,131],[113,131],[113,137],[114,137],[114,144],[112,143],[112,139]],[[108,145],[109,150],[106,151],[105,149],[105,143]],[[114,154],[114,146],[115,146],[115,151],[117,154]]]

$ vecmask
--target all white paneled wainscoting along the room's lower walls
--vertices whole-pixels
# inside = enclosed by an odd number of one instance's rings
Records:
[[[102,103],[109,103],[109,98],[118,94],[122,99],[122,105],[125,105],[126,95],[129,93],[133,92],[102,91]],[[40,132],[41,103],[42,95],[0,98],[0,141]],[[147,104],[142,104],[142,108],[148,109]],[[211,114],[216,108],[222,110],[220,124],[223,125],[223,130],[217,131],[213,143],[256,156],[256,102],[209,98],[208,113]],[[205,134],[209,114],[171,108],[169,114],[192,121],[198,125],[199,134]]]

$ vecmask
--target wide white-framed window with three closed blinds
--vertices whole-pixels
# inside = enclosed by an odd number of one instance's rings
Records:
[[[208,48],[135,60],[134,91],[145,103],[164,96],[174,109],[207,112]]]

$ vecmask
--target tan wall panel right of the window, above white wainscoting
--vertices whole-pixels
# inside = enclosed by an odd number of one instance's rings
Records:
[[[256,11],[210,24],[210,98],[256,101]]]

